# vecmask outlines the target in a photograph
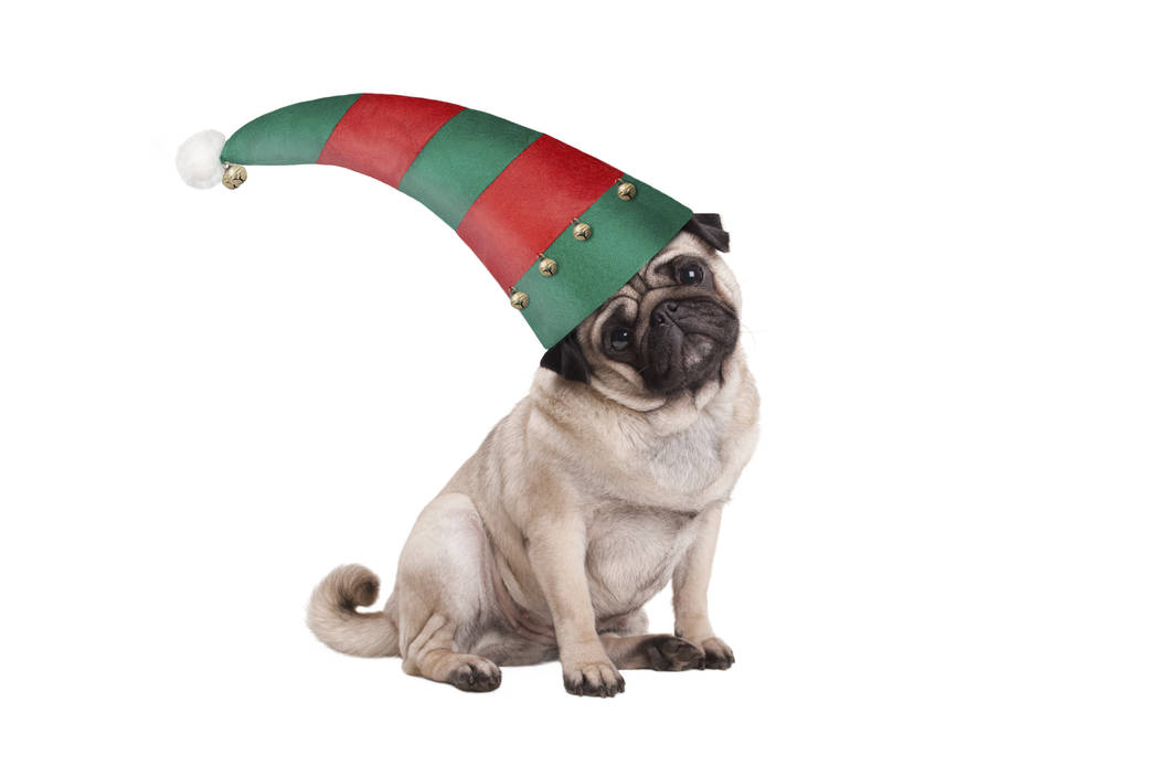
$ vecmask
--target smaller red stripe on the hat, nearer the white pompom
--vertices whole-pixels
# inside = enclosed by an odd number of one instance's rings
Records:
[[[364,94],[334,127],[319,164],[356,170],[395,189],[427,141],[461,105],[394,94]]]

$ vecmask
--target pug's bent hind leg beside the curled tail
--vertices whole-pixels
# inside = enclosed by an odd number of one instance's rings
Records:
[[[415,522],[395,583],[402,669],[486,693],[502,681],[498,666],[469,649],[487,607],[487,535],[469,498],[439,496]]]

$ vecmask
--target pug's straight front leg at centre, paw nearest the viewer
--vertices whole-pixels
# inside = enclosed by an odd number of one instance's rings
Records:
[[[567,510],[556,519],[535,520],[525,536],[527,559],[552,612],[563,666],[563,687],[573,695],[612,697],[624,691],[599,636],[588,591],[583,521]]]

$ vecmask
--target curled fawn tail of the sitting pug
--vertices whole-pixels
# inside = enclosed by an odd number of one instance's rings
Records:
[[[360,658],[399,656],[399,629],[385,612],[358,612],[378,599],[378,577],[366,566],[338,566],[318,584],[306,624],[331,650]]]

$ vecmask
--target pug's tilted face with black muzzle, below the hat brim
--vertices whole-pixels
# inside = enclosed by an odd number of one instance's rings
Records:
[[[739,331],[727,250],[720,218],[694,215],[540,365],[629,405],[719,383]]]

